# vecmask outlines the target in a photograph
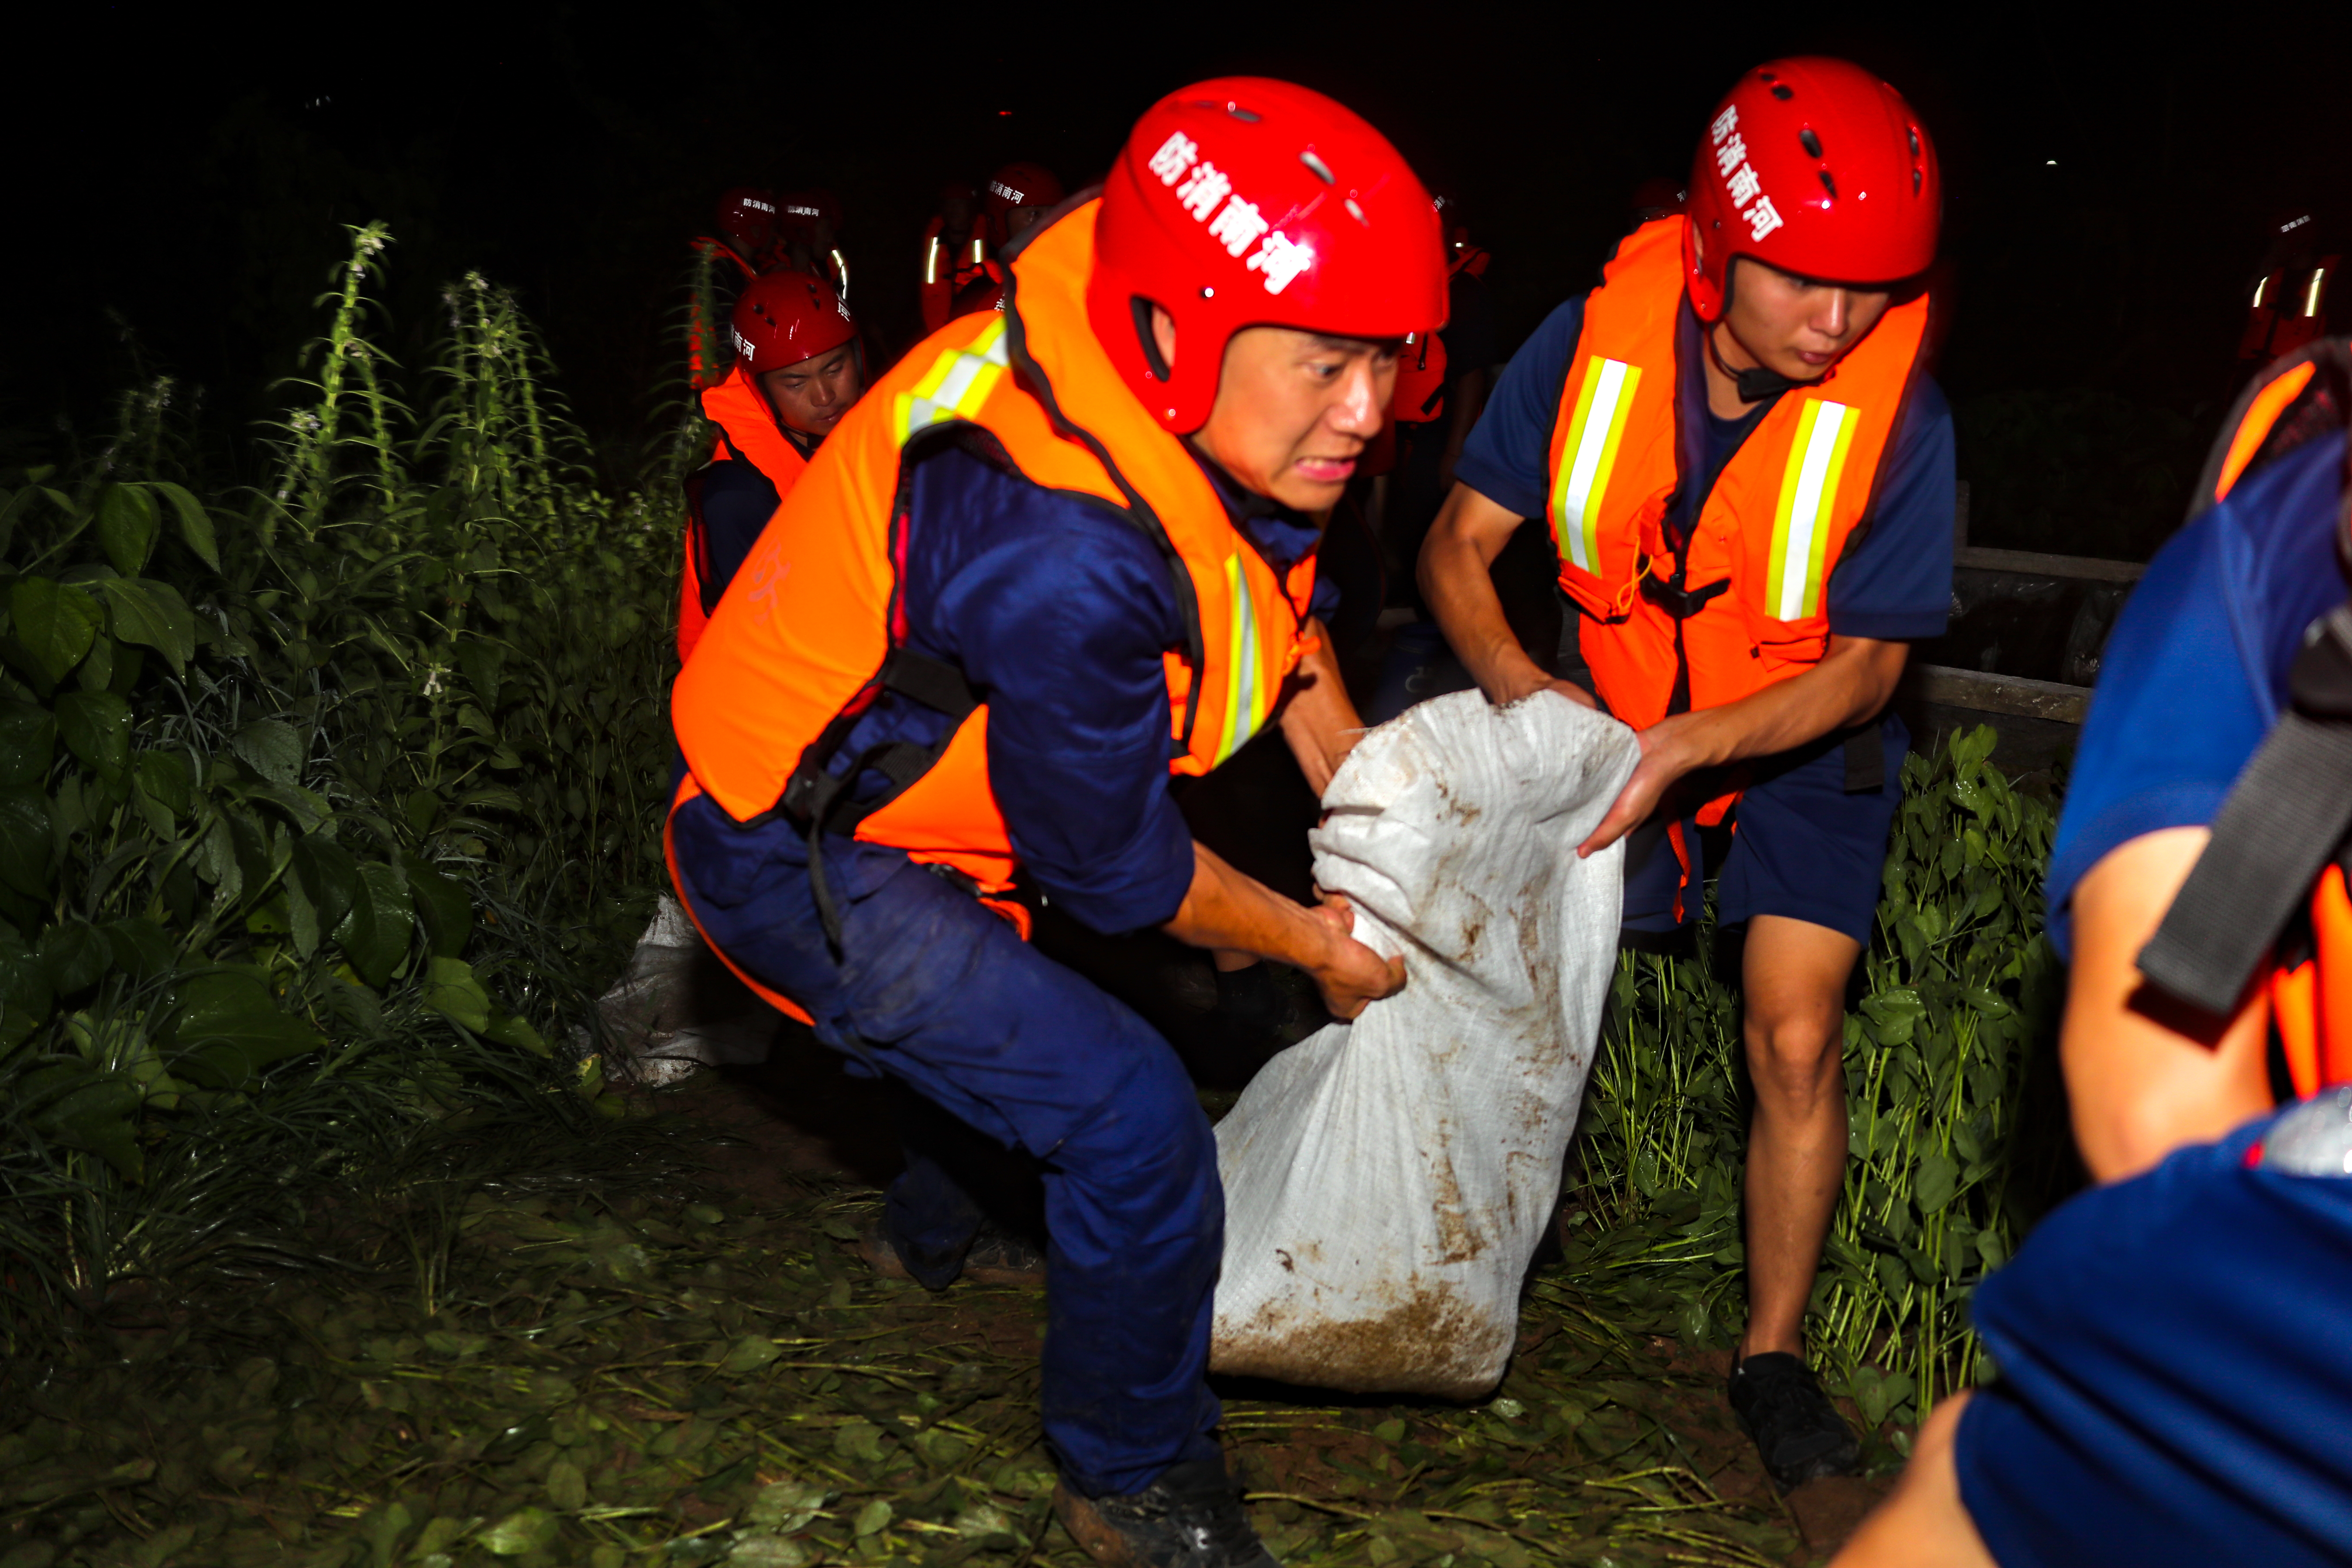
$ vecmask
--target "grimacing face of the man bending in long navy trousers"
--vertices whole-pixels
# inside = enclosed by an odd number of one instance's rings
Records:
[[[1152,313],[1160,353],[1176,364],[1176,331]],[[1327,339],[1294,327],[1244,327],[1225,346],[1209,423],[1192,437],[1225,473],[1282,505],[1338,503],[1364,444],[1381,433],[1397,386],[1397,346]]]

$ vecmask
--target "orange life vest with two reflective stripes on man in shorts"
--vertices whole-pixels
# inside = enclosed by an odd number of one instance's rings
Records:
[[[1630,233],[1585,299],[1545,484],[1585,663],[1635,729],[1672,710],[1684,672],[1696,710],[1820,663],[1825,585],[1870,515],[1929,317],[1926,296],[1891,306],[1830,374],[1790,388],[1724,463],[1677,555],[1665,515],[1684,482],[1684,223],[1677,214]],[[1722,820],[1731,799],[1710,802],[1700,820]]]

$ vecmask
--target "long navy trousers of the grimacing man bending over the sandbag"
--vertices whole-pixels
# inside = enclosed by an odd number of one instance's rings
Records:
[[[800,1001],[854,1067],[1040,1164],[1042,1413],[1070,1486],[1134,1493],[1169,1465],[1216,1458],[1204,1371],[1225,1194],[1209,1119],[1169,1044],[898,851],[828,842],[837,961],[790,825],[739,827],[699,797],[670,835],[680,893],[720,952]],[[915,1262],[953,1258],[981,1218],[955,1150],[927,1147],[924,1124],[901,1117],[915,1147],[887,1206]]]

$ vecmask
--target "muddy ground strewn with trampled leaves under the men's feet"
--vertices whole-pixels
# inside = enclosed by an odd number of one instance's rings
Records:
[[[14,1363],[0,1568],[1084,1563],[1037,1443],[1042,1298],[856,1255],[896,1161],[875,1088],[802,1039],[659,1105],[699,1171],[473,1185],[440,1227],[405,1211],[372,1272]],[[1486,1401],[1221,1389],[1287,1563],[1778,1566],[1851,1530],[1884,1479],[1776,1497],[1726,1354],[1668,1338],[1670,1302],[1581,1291],[1566,1234]]]

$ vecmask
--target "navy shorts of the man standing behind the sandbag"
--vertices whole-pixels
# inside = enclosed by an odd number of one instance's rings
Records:
[[[1870,945],[1886,870],[1886,830],[1903,802],[1903,755],[1910,729],[1896,715],[1879,724],[1886,780],[1846,792],[1844,743],[1816,743],[1790,766],[1750,785],[1731,813],[1731,853],[1717,875],[1715,919],[1736,926],[1757,914],[1785,914]],[[1691,884],[1675,919],[1682,863],[1665,823],[1651,820],[1625,839],[1625,931],[1665,936],[1698,919],[1708,865],[1698,823],[1682,825],[1691,853]]]

